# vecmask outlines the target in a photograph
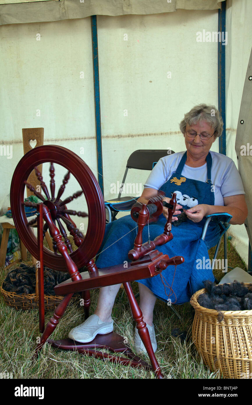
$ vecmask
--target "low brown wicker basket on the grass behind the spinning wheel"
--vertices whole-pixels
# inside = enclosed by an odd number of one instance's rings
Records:
[[[36,293],[35,294],[16,294],[15,292],[5,291],[0,286],[0,292],[4,297],[4,302],[15,309],[33,309],[38,308],[38,269],[36,270]],[[64,296],[61,295],[44,295],[44,310],[55,309]],[[71,298],[71,301],[79,301],[77,294]]]

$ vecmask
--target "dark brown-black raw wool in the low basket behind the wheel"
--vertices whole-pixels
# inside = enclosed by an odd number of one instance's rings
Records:
[[[44,294],[55,295],[53,288],[56,284],[62,283],[69,278],[68,273],[44,267]],[[36,267],[21,263],[19,267],[7,274],[2,288],[5,291],[15,292],[16,294],[35,294]]]

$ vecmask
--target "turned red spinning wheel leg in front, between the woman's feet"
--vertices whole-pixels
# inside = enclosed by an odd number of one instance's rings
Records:
[[[163,375],[160,371],[160,366],[157,362],[156,356],[155,356],[153,348],[152,348],[152,344],[150,341],[150,335],[149,335],[146,323],[143,321],[142,311],[133,294],[131,285],[129,282],[127,282],[127,283],[123,283],[123,286],[125,288],[127,297],[129,299],[129,305],[131,307],[133,318],[136,321],[136,327],[138,328],[138,333],[140,335],[140,338],[142,339],[142,342],[144,343],[144,346],[145,346],[148,356],[150,358],[152,369],[158,378],[163,378]]]

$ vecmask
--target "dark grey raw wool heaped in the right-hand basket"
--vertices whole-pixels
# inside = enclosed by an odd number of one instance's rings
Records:
[[[216,285],[206,280],[204,284],[208,292],[199,295],[198,303],[201,307],[216,309],[216,311],[252,309],[252,292],[244,286],[244,283],[235,280],[231,284]]]

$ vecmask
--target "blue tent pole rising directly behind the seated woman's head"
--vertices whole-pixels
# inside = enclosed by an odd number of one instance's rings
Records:
[[[218,10],[218,32],[222,39],[222,32],[226,32],[226,1],[221,2]],[[219,39],[220,39],[219,38]],[[225,95],[225,47],[222,41],[218,41],[218,110],[223,120],[223,132],[219,138],[219,153],[226,155],[226,95]]]

